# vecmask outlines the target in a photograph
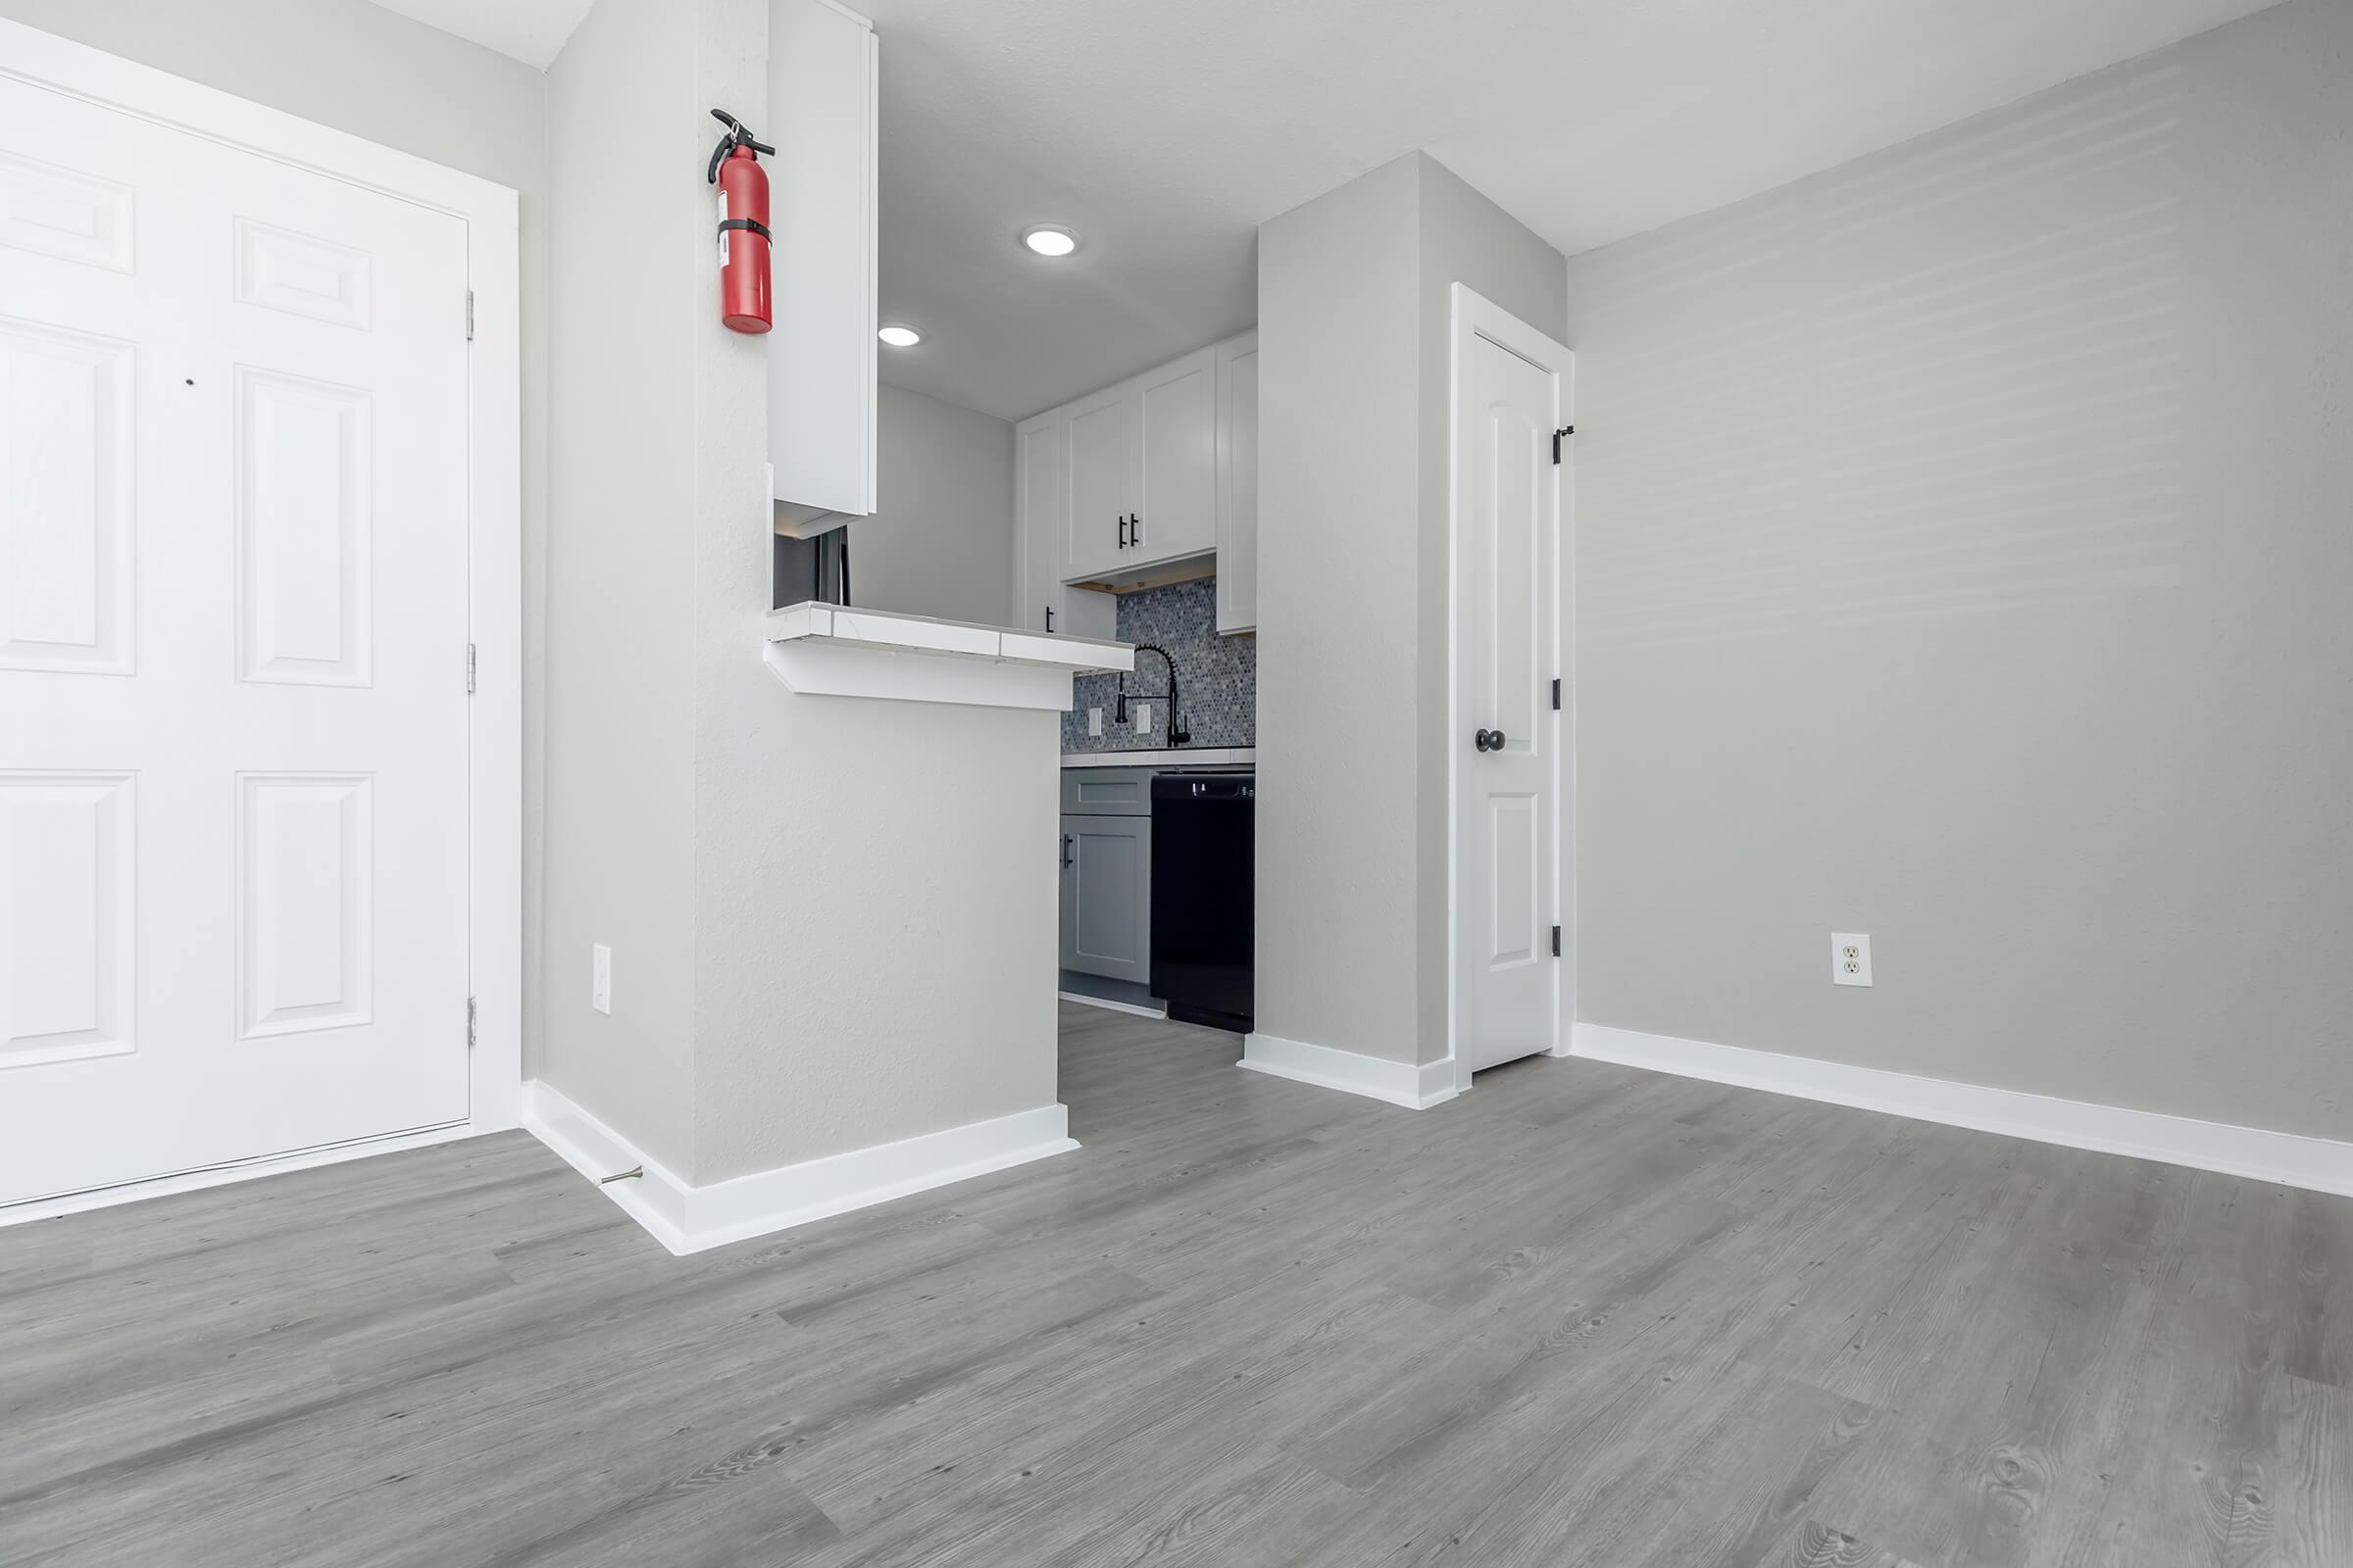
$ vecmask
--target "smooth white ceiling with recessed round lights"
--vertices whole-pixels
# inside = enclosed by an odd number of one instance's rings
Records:
[[[534,63],[586,9],[386,2]],[[927,334],[882,376],[1016,418],[1249,324],[1257,226],[1414,148],[1574,254],[2271,0],[849,2],[882,315]],[[1040,221],[1078,256],[1021,252]]]

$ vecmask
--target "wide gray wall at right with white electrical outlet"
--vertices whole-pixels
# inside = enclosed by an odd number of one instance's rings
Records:
[[[2332,0],[1577,259],[1579,1018],[2353,1135],[2348,280]]]

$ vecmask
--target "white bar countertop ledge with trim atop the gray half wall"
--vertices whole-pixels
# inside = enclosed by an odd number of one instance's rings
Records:
[[[776,679],[807,696],[1049,712],[1071,708],[1073,675],[1136,668],[1125,642],[816,602],[767,614],[765,658]]]

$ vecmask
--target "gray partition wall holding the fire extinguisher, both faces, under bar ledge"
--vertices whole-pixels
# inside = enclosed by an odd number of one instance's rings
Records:
[[[1056,1067],[1056,715],[760,661],[772,346],[711,310],[678,169],[765,80],[765,0],[598,0],[551,71],[544,1077],[696,1185],[1052,1105]]]

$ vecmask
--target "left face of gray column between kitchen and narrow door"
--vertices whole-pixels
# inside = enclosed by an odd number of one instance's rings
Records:
[[[1257,1027],[1414,1051],[1421,169],[1259,226]]]

